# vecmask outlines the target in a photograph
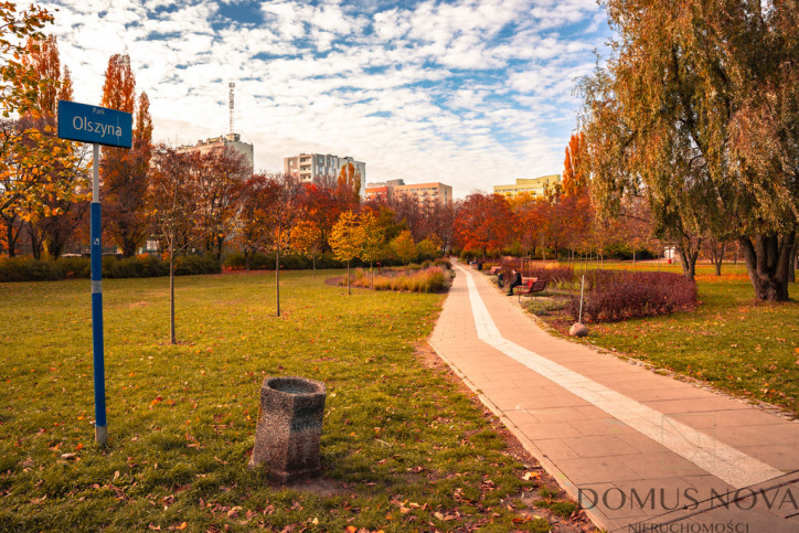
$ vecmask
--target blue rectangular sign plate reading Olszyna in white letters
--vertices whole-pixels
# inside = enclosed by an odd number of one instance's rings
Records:
[[[132,146],[134,116],[107,107],[58,100],[58,137],[118,148]]]

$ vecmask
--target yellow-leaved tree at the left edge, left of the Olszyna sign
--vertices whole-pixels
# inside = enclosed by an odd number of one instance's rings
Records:
[[[66,170],[79,167],[72,145],[54,135],[53,102],[60,93],[70,97],[71,83],[60,65],[47,64],[53,51],[57,60],[54,39],[41,32],[49,22],[52,15],[42,8],[0,3],[0,220],[11,256],[19,230],[53,211],[46,198],[68,200],[75,193],[74,180],[65,175],[74,178]]]

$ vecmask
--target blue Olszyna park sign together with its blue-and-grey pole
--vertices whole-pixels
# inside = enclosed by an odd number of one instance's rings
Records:
[[[103,348],[103,246],[99,201],[100,145],[131,148],[134,117],[106,107],[58,100],[58,137],[93,143],[92,159],[92,339],[94,352],[95,441],[108,441],[105,351]]]

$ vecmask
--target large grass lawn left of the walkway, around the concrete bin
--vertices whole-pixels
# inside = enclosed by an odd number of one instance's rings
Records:
[[[166,278],[104,281],[104,450],[88,280],[0,285],[0,531],[546,531],[515,503],[531,467],[414,353],[444,296],[323,277],[281,276],[280,318],[273,274],[178,278],[177,347]],[[313,490],[246,468],[265,375],[328,385]]]

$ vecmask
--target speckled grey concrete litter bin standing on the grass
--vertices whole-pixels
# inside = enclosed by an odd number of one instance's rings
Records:
[[[249,468],[266,463],[270,479],[290,483],[321,472],[319,440],[324,383],[305,377],[266,377]]]

